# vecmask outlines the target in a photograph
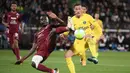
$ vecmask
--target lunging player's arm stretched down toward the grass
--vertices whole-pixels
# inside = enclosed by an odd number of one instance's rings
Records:
[[[33,46],[32,46],[32,48],[30,49],[29,53],[28,53],[26,56],[22,57],[22,58],[21,58],[19,61],[17,61],[15,64],[16,64],[16,65],[21,64],[24,60],[26,60],[28,57],[30,57],[30,56],[35,52],[36,48],[37,48],[37,44],[36,44],[36,43],[33,43]]]

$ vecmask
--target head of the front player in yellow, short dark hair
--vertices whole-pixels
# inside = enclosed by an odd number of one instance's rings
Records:
[[[82,15],[82,5],[80,3],[76,3],[73,9],[75,16],[80,17]]]

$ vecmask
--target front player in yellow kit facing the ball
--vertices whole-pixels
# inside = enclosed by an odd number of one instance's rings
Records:
[[[98,55],[96,51],[96,38],[93,35],[91,25],[93,25],[94,28],[99,27],[99,25],[95,22],[92,16],[83,13],[81,4],[74,5],[74,13],[75,15],[71,18],[71,24],[74,27],[74,30],[83,29],[86,32],[86,35],[82,40],[75,39],[72,47],[65,53],[65,59],[70,73],[76,73],[74,63],[71,59],[72,56],[83,55],[86,51],[85,48],[87,47],[90,48],[94,58]],[[99,34],[102,34],[102,32],[99,32]]]

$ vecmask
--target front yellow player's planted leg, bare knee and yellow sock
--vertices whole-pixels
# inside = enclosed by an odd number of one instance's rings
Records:
[[[72,50],[68,50],[66,53],[65,53],[65,60],[66,60],[66,63],[67,63],[67,66],[69,68],[69,71],[70,73],[76,73],[75,72],[75,66],[74,66],[74,63],[71,59],[71,57],[74,55],[73,51]]]

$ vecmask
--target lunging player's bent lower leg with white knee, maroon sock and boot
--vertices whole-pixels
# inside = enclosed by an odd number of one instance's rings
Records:
[[[43,61],[43,57],[40,55],[34,55],[32,58],[32,67],[42,72],[48,73],[59,73],[58,69],[51,69],[43,65],[41,62]]]

